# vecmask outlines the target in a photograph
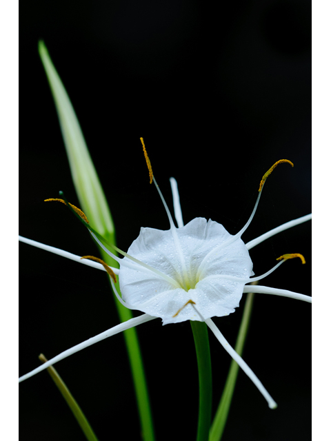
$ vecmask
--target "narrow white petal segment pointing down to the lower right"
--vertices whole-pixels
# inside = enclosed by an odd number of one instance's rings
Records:
[[[237,354],[237,352],[234,351],[234,349],[229,345],[227,340],[225,340],[223,334],[221,334],[221,331],[214,324],[214,322],[211,320],[211,318],[208,318],[207,320],[205,320],[205,322],[210,327],[210,329],[214,333],[214,336],[217,338],[217,340],[219,340],[219,342],[221,343],[221,345],[223,346],[225,351],[227,351],[230,354],[230,356],[234,359],[234,361],[236,361],[238,363],[238,365],[241,367],[241,369],[243,369],[245,374],[255,384],[257,389],[259,389],[259,391],[262,393],[262,395],[265,398],[265,400],[267,400],[268,406],[270,407],[270,409],[276,409],[277,403],[274,402],[274,400],[270,396],[270,393],[268,393],[268,391],[265,389],[265,387],[263,386],[263,384],[261,383],[259,378],[257,378],[257,376],[254,374],[252,369],[250,369],[250,367],[248,367],[248,365],[243,361],[241,356],[239,356]]]

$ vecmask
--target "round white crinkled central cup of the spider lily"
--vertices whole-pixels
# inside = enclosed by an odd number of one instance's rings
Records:
[[[171,230],[152,228],[141,229],[128,254],[177,280],[182,289],[174,287],[157,274],[146,272],[139,265],[123,265],[119,273],[123,300],[134,309],[161,317],[163,324],[201,321],[192,305],[173,317],[188,300],[196,302],[205,318],[228,316],[238,307],[243,286],[253,274],[252,260],[245,244],[238,238],[228,247],[221,248],[220,245],[232,236],[223,225],[212,220],[207,222],[204,218],[191,220],[176,233],[182,259],[179,258],[178,245],[174,243]],[[189,279],[186,285],[183,283],[185,273]],[[222,275],[242,280],[227,280]]]

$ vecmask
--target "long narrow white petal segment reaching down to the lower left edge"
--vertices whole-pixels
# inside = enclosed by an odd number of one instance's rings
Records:
[[[149,322],[150,320],[154,320],[156,317],[149,316],[148,314],[143,314],[142,316],[136,317],[136,318],[130,318],[130,320],[127,320],[124,323],[121,323],[120,325],[114,326],[108,331],[101,332],[101,334],[98,334],[95,337],[89,338],[85,342],[79,343],[79,345],[75,345],[71,347],[70,349],[67,349],[66,351],[63,351],[59,353],[58,356],[51,358],[48,360],[48,362],[43,363],[43,365],[37,367],[36,369],[33,369],[33,371],[30,371],[29,373],[26,373],[26,375],[23,375],[19,378],[19,382],[27,380],[27,378],[30,378],[34,376],[36,373],[39,373],[43,371],[44,369],[47,369],[49,366],[54,365],[58,361],[63,360],[63,358],[67,358],[71,356],[75,352],[79,352],[82,349],[85,349],[86,347],[89,347],[91,345],[94,345],[94,343],[100,342],[101,340],[104,340],[105,338],[114,336],[115,334],[119,334],[119,332],[126,331],[126,329],[130,329],[132,327],[141,325],[141,323]]]

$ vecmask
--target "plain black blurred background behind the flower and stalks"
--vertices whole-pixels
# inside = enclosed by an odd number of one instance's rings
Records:
[[[78,205],[50,88],[37,51],[43,39],[68,91],[105,190],[117,243],[140,227],[168,228],[148,172],[169,205],[177,178],[184,222],[212,218],[236,233],[250,216],[259,181],[278,159],[245,242],[311,211],[311,4],[305,0],[35,1],[21,3],[20,234],[74,254],[96,254],[65,207],[44,204],[59,190]],[[311,294],[310,223],[250,252],[255,274],[285,253],[261,285]],[[20,374],[119,319],[101,271],[20,245]],[[243,296],[242,305],[245,300]],[[270,411],[243,372],[224,441],[310,440],[310,305],[257,294],[243,358],[279,408]],[[234,345],[243,308],[216,318]],[[139,313],[137,313],[139,314]],[[197,362],[190,323],[137,328],[157,440],[194,440]],[[230,356],[210,335],[213,409]],[[57,370],[99,441],[140,439],[123,336],[63,360]],[[20,385],[20,434],[84,440],[47,373]]]

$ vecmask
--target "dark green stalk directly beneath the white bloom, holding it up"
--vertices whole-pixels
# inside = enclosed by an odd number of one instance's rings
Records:
[[[199,419],[197,441],[208,441],[212,418],[212,363],[205,322],[191,321],[199,371]]]

